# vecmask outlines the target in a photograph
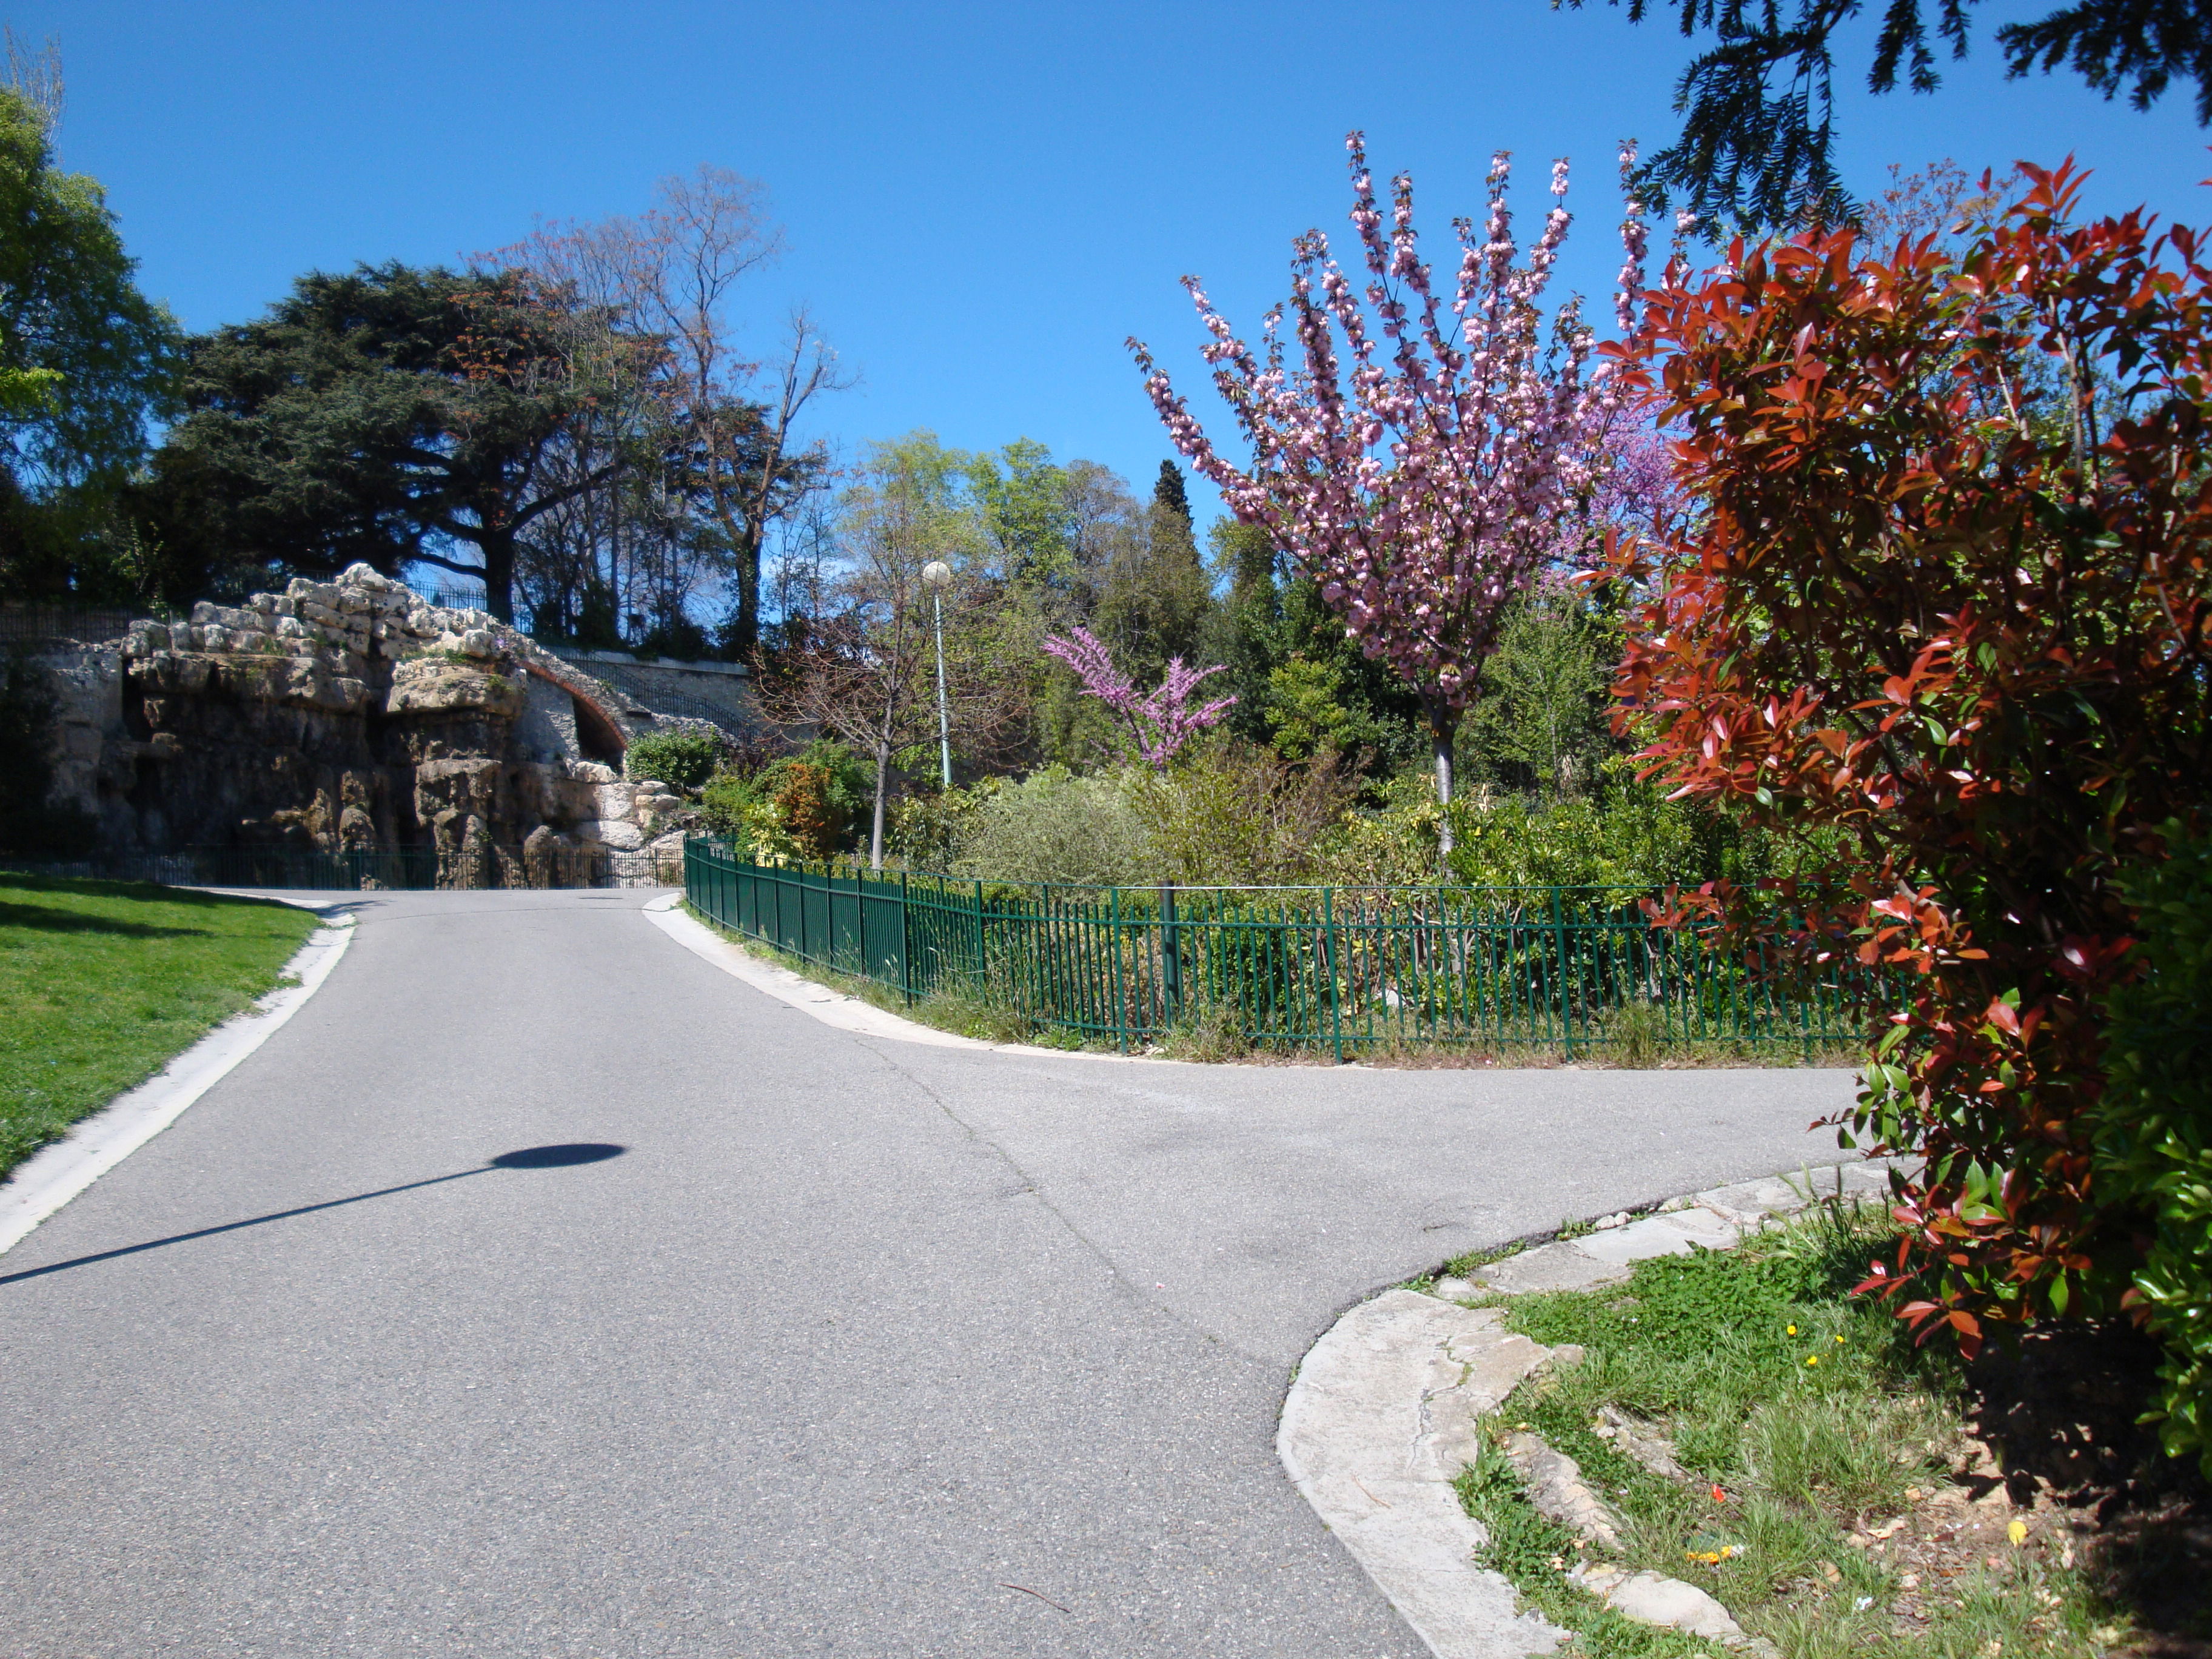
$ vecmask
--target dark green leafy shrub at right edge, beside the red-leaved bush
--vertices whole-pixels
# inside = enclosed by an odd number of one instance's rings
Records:
[[[2128,1303],[2166,1343],[2159,1438],[2212,1473],[2212,843],[2168,825],[2172,858],[2135,876],[2143,971],[2108,1000],[2095,1179],[2150,1239]]]

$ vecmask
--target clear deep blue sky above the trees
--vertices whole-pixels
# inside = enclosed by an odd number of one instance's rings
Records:
[[[2188,93],[2150,115],[1978,51],[1936,97],[1854,93],[1845,177],[2073,150],[2095,208],[2212,219]],[[533,215],[644,208],[714,161],[763,179],[790,254],[750,307],[805,301],[863,374],[825,436],[1031,436],[1148,484],[1168,453],[1124,336],[1190,374],[1177,276],[1239,323],[1281,296],[1290,239],[1345,221],[1343,135],[1411,168],[1431,246],[1480,212],[1493,148],[1526,208],[1577,164],[1571,285],[1606,292],[1613,146],[1668,142],[1686,60],[1666,24],[1546,0],[1442,4],[122,4],[4,13],[60,35],[71,168],[102,179],[144,288],[190,327],[243,321],[307,268],[447,261]],[[1871,31],[1867,31],[1871,33]],[[1865,40],[1843,77],[1860,84]]]

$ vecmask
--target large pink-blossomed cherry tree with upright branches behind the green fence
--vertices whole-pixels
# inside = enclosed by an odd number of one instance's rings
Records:
[[[1239,469],[1208,440],[1141,341],[1146,374],[1175,447],[1230,511],[1261,524],[1321,584],[1345,633],[1420,697],[1436,750],[1436,794],[1451,801],[1451,743],[1513,595],[1557,562],[1559,524],[1586,504],[1628,392],[1568,301],[1546,327],[1542,294],[1566,241],[1566,161],[1553,208],[1520,263],[1506,208],[1509,157],[1491,161],[1491,212],[1453,221],[1458,272],[1438,290],[1413,234],[1413,181],[1376,201],[1363,135],[1352,133],[1352,223],[1363,285],[1323,232],[1292,243],[1285,307],[1267,312],[1263,349],[1237,336],[1186,276],[1214,387],[1252,447]],[[1621,150],[1626,190],[1635,150]],[[1615,294],[1621,332],[1644,288],[1644,212],[1630,197]],[[1442,852],[1451,852],[1444,816]]]

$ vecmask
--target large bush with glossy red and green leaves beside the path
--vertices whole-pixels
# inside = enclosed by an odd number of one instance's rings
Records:
[[[1624,347],[1708,515],[1619,549],[1619,719],[1668,790],[1840,838],[1778,896],[1798,960],[1909,984],[1849,1133],[1927,1166],[1869,1285],[1969,1352],[2139,1263],[2093,1181],[2099,1006],[2124,878],[2212,807],[2212,270],[2026,173],[1960,254],[1840,230],[1670,265]]]

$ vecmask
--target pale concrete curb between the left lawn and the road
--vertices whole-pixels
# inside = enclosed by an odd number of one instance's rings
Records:
[[[290,898],[281,902],[301,905]],[[352,916],[319,927],[283,967],[285,980],[292,982],[279,984],[246,1013],[223,1020],[170,1060],[159,1075],[117,1095],[66,1137],[24,1159],[7,1186],[0,1186],[0,1254],[13,1250],[31,1228],[184,1117],[186,1108],[228,1077],[232,1066],[274,1037],[330,978],[352,938]]]

